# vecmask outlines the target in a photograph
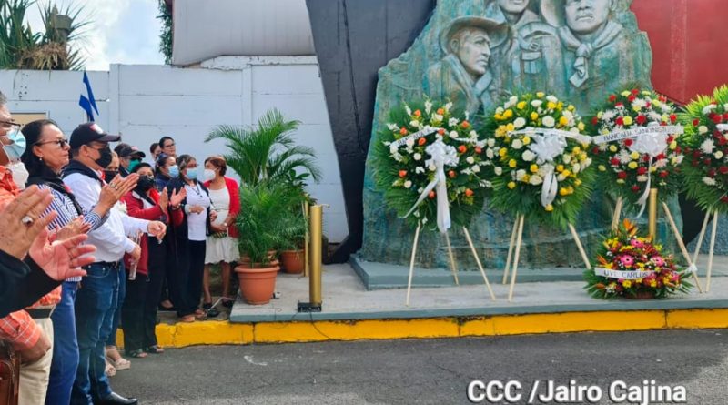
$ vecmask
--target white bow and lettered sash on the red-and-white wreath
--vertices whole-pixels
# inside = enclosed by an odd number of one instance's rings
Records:
[[[683,132],[684,128],[682,126],[660,126],[657,122],[651,122],[647,127],[616,131],[600,137],[594,137],[594,143],[597,144],[634,137],[636,138],[634,143],[628,148],[632,152],[637,152],[642,156],[650,156],[647,167],[647,185],[644,187],[642,196],[637,200],[637,204],[640,205],[640,212],[637,214],[637,218],[642,217],[644,208],[647,207],[647,199],[650,197],[650,188],[652,187],[652,159],[658,157],[667,149],[667,138],[670,135],[680,135]]]

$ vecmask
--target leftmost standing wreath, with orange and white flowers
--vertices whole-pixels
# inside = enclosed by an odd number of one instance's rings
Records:
[[[434,228],[442,188],[431,186],[439,175],[444,177],[452,222],[460,226],[470,225],[490,187],[482,170],[490,164],[483,153],[485,141],[469,116],[451,107],[425,100],[394,108],[375,141],[371,163],[376,186],[389,208],[412,227],[421,223]]]

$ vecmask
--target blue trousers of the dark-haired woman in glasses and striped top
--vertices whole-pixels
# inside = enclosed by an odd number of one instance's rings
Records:
[[[53,362],[48,380],[46,405],[67,405],[71,401],[71,387],[76,380],[78,368],[78,341],[76,340],[77,281],[66,281],[62,285],[61,302],[51,315],[53,321]]]

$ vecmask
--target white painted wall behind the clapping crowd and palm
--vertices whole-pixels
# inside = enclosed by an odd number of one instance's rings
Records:
[[[324,178],[311,185],[323,204],[332,242],[348,234],[339,160],[313,56],[223,57],[201,68],[112,65],[88,72],[100,115],[96,122],[123,141],[148,150],[162,136],[174,137],[177,154],[204,160],[225,152],[222,142],[203,140],[214,127],[252,125],[269,108],[298,119],[298,142],[317,150]],[[13,113],[47,113],[70,136],[86,120],[78,106],[80,72],[0,70],[0,91]],[[147,154],[148,155],[148,154]],[[201,162],[200,162],[201,163]]]

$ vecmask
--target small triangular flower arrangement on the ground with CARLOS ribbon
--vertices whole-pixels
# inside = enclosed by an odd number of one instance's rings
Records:
[[[686,281],[689,273],[677,267],[672,255],[664,255],[661,245],[637,233],[637,227],[624,219],[604,241],[594,268],[584,272],[584,289],[592,297],[663,299],[693,287]]]

